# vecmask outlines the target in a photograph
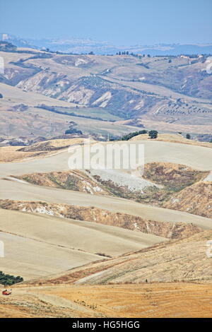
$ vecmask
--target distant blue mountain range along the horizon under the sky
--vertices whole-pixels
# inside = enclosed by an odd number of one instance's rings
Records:
[[[158,44],[158,45],[132,45],[118,46],[110,42],[98,42],[91,39],[71,37],[69,39],[30,39],[20,38],[7,33],[1,33],[0,39],[12,42],[17,47],[30,47],[37,49],[50,49],[54,52],[83,54],[94,52],[95,54],[115,54],[129,51],[141,54],[155,55],[179,55],[179,54],[212,54],[212,43],[196,45]]]

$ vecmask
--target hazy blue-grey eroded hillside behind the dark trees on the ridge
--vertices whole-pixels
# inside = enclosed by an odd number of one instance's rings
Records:
[[[64,134],[69,121],[83,134],[105,137],[108,132],[122,136],[143,126],[211,134],[207,57],[71,55],[24,49],[0,55],[5,59],[1,114],[8,126],[2,135],[18,135],[15,121],[23,126],[22,136]],[[20,103],[26,108],[18,114]],[[129,119],[135,125],[130,126]],[[44,130],[38,130],[44,123]]]

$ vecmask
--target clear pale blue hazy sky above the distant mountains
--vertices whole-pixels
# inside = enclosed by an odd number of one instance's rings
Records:
[[[212,0],[0,0],[0,32],[115,45],[212,42]]]

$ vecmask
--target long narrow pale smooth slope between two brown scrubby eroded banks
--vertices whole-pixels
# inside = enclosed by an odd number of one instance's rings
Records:
[[[167,221],[171,223],[194,223],[194,225],[206,230],[212,227],[212,220],[209,218],[192,215],[186,212],[148,206],[124,198],[93,196],[78,191],[47,188],[4,179],[0,180],[0,187],[0,198],[3,199],[12,199],[15,201],[46,201],[49,203],[66,203],[73,206],[95,206],[112,212],[138,215],[147,220]]]

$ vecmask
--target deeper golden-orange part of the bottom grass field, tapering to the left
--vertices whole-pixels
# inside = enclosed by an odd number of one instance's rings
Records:
[[[59,295],[60,290],[53,290]],[[119,285],[116,287],[71,287],[61,296],[96,306],[102,315],[117,317],[210,316],[212,286]]]

